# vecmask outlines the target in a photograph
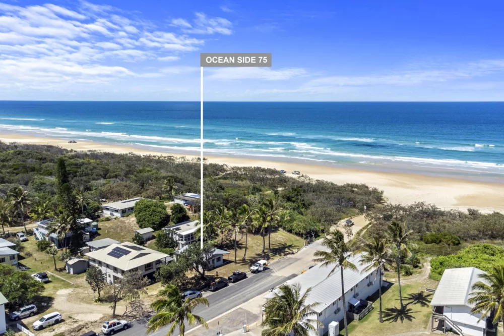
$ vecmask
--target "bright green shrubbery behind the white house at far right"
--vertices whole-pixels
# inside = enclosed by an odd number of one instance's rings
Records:
[[[496,264],[504,265],[504,249],[491,244],[476,244],[457,254],[432,258],[430,277],[439,281],[447,268],[477,267],[489,271]]]

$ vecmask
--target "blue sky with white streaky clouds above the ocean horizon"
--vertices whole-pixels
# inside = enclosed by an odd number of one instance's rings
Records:
[[[0,100],[502,101],[504,2],[0,0]]]

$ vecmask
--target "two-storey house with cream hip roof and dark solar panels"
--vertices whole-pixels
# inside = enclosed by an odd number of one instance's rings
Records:
[[[105,273],[109,284],[127,271],[141,271],[142,275],[154,279],[156,269],[173,260],[167,254],[130,242],[112,244],[84,255],[89,257],[90,266]]]

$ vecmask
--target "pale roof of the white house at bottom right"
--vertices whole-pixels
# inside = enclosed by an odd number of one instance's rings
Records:
[[[476,267],[445,269],[443,276],[430,302],[431,306],[468,306],[472,286],[481,281],[479,276],[486,274]]]

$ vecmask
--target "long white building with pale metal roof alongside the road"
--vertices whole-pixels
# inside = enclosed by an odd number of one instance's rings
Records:
[[[376,269],[361,273],[366,265],[360,265],[360,255],[350,257],[349,261],[357,267],[357,270],[343,270],[346,309],[343,307],[341,273],[339,268],[329,275],[334,266],[322,267],[322,264],[318,264],[285,283],[290,286],[300,286],[301,295],[304,295],[306,290],[311,288],[311,292],[305,303],[319,303],[313,310],[317,314],[318,320],[324,326],[319,328],[319,332],[312,336],[322,336],[327,333],[329,331],[329,323],[342,321],[345,311],[349,311],[349,315],[352,314],[351,312],[355,312],[356,314],[363,312],[365,315],[372,309],[371,304],[365,300],[379,289],[380,281]],[[276,295],[275,293],[278,294],[280,292],[278,290],[273,291],[268,293],[265,298],[271,299]]]

